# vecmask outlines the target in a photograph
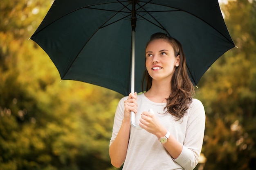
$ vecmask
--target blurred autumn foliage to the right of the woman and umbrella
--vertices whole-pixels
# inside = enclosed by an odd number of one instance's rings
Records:
[[[238,48],[226,52],[202,77],[197,97],[203,102],[205,169],[256,169],[256,1],[222,5]]]

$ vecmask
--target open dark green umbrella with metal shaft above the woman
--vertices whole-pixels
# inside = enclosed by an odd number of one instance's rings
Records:
[[[218,0],[55,0],[31,39],[61,79],[128,95],[141,92],[145,45],[157,32],[181,42],[194,85],[235,46]]]

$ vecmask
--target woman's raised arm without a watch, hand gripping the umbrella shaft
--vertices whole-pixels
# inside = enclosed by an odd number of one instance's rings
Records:
[[[126,159],[131,126],[130,111],[137,113],[137,94],[129,94],[127,100],[123,101],[120,100],[117,107],[109,148],[111,163],[117,168]]]

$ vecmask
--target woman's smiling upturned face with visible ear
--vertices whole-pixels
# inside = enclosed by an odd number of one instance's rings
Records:
[[[155,39],[146,48],[146,68],[153,81],[171,82],[171,77],[180,65],[180,56],[174,55],[171,44],[165,39]]]

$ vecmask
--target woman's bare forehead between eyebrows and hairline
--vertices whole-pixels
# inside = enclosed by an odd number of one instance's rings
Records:
[[[173,50],[172,44],[166,40],[166,39],[154,39],[153,41],[150,41],[148,46],[146,47],[146,50]]]

